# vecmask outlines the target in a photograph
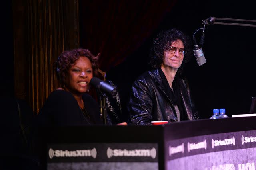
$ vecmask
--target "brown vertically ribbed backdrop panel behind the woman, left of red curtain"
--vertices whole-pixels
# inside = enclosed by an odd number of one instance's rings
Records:
[[[34,113],[58,86],[54,62],[79,47],[78,0],[13,0],[14,92]]]

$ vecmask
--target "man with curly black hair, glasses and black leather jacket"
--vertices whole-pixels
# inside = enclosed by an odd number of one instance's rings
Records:
[[[188,83],[179,75],[182,63],[187,60],[186,53],[191,51],[190,44],[188,36],[180,29],[158,35],[150,61],[152,70],[142,74],[132,85],[128,104],[131,124],[199,119]]]

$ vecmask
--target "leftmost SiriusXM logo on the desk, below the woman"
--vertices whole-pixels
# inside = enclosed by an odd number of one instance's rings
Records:
[[[53,157],[88,157],[92,156],[96,158],[97,150],[93,148],[92,150],[53,150],[52,148],[49,149],[48,152],[49,158],[52,159]]]

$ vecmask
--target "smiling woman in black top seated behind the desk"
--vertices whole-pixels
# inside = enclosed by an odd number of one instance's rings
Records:
[[[38,113],[41,126],[102,124],[98,103],[86,92],[93,76],[100,76],[94,56],[87,49],[63,51],[56,61],[61,87],[48,96]]]

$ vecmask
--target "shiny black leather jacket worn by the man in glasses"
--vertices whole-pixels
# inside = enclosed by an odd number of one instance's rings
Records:
[[[181,78],[178,78],[178,82],[188,119],[199,119],[188,83]],[[163,89],[158,70],[147,71],[134,82],[128,104],[131,124],[150,125],[150,121],[178,121],[174,105]]]

